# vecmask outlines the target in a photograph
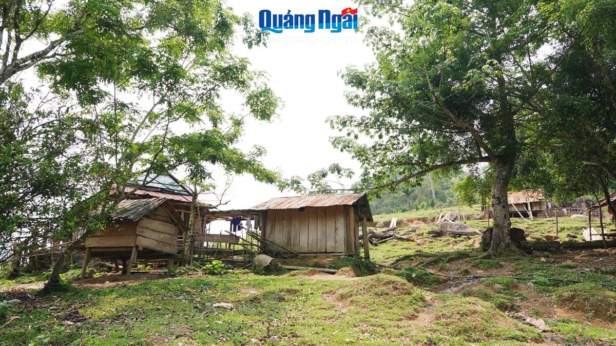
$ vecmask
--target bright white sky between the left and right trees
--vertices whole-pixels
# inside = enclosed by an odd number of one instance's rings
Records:
[[[241,1],[228,0],[236,14],[248,12],[255,22],[259,10],[269,9],[272,14],[316,14],[319,9],[336,13],[352,7],[354,2],[310,1],[290,2],[280,0]],[[363,15],[359,8],[360,17]],[[285,102],[278,119],[272,123],[248,121],[240,148],[248,151],[253,145],[267,149],[263,159],[270,169],[280,169],[285,177],[307,174],[331,163],[351,167],[359,177],[359,163],[351,156],[331,147],[329,138],[338,134],[330,129],[326,118],[332,115],[362,114],[367,111],[351,107],[344,99],[350,88],[338,76],[347,65],[363,66],[374,60],[371,50],[363,42],[363,34],[353,30],[330,33],[328,30],[285,30],[271,33],[267,48],[248,49],[238,41],[233,52],[249,58],[253,69],[269,74],[269,86]],[[228,95],[223,100],[225,110],[244,114],[241,100]],[[224,183],[222,175],[220,183]],[[349,183],[353,180],[349,180]],[[349,184],[350,185],[350,184]],[[293,191],[281,193],[277,187],[255,182],[252,177],[235,177],[225,199],[230,199],[221,209],[248,208],[277,196],[296,195]],[[209,198],[203,198],[209,199]]]

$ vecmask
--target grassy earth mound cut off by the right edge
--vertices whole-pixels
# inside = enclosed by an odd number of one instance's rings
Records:
[[[602,286],[572,284],[557,289],[554,297],[556,304],[583,312],[591,320],[599,318],[610,323],[616,321],[616,293]]]

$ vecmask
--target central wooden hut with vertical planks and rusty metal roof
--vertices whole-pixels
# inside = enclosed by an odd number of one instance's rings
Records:
[[[372,221],[365,193],[272,198],[263,211],[261,236],[282,252],[357,255],[360,220]]]

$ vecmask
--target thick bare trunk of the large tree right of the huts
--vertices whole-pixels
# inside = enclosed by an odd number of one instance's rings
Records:
[[[499,160],[500,161],[500,160]],[[507,191],[514,160],[501,161],[495,164],[494,188],[492,190],[493,232],[492,244],[487,252],[488,256],[499,256],[509,251],[519,251],[511,238],[509,238],[509,201]]]

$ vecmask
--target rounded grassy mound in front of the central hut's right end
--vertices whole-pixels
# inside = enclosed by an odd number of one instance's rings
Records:
[[[336,292],[336,300],[365,311],[387,311],[411,316],[424,305],[424,294],[406,280],[392,275],[371,275],[354,280]]]

